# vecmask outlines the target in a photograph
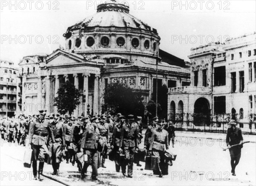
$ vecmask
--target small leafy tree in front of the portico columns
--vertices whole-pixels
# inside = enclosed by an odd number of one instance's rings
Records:
[[[57,93],[58,97],[54,99],[54,106],[57,106],[58,113],[69,113],[71,115],[76,106],[80,104],[79,98],[81,94],[79,90],[70,81],[66,81],[58,89]]]

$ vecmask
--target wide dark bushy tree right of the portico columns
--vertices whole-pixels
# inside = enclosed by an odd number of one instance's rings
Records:
[[[142,94],[119,83],[108,84],[105,88],[103,108],[111,114],[122,113],[144,115]]]

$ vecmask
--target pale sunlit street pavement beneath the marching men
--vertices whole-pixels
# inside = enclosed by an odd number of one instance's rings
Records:
[[[223,134],[225,137],[225,134]],[[246,140],[246,139],[244,139]],[[123,177],[115,172],[114,162],[106,160],[106,169],[99,168],[98,181],[90,179],[91,168],[88,168],[87,177],[81,180],[78,169],[67,164],[65,161],[60,166],[60,176],[56,180],[63,181],[67,185],[256,185],[256,143],[244,144],[241,159],[236,168],[236,176],[230,171],[229,151],[223,151],[225,143],[220,140],[205,138],[175,138],[175,147],[171,150],[177,154],[173,166],[169,166],[169,175],[159,178],[150,170],[144,170],[145,163],[140,162],[142,167],[134,164],[133,178]],[[143,146],[141,146],[143,148]],[[23,167],[23,154],[25,147],[15,143],[9,144],[1,139],[0,147],[0,185],[62,185],[56,181],[44,178],[44,181],[32,180],[32,168]],[[52,166],[44,165],[44,174],[52,177]]]

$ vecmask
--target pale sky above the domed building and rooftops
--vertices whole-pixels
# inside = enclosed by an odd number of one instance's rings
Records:
[[[0,1],[0,58],[18,64],[27,55],[64,46],[69,26],[96,13],[102,1]],[[110,2],[110,1],[108,1]],[[190,49],[256,31],[255,0],[126,0],[130,14],[157,29],[160,49],[189,61]]]

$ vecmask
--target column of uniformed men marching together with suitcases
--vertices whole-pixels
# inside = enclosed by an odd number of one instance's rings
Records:
[[[157,117],[151,119],[143,144],[140,116],[122,116],[118,113],[116,116],[102,114],[75,118],[58,113],[47,116],[46,112],[40,110],[38,115],[0,119],[3,139],[9,142],[17,140],[19,145],[32,148],[35,180],[43,180],[45,162],[52,165],[53,175],[59,175],[61,162],[72,163],[73,166],[76,164],[81,178],[86,176],[88,166],[92,166],[91,178],[97,180],[97,170],[99,167],[106,168],[105,159],[108,156],[115,162],[117,172],[121,170],[123,176],[131,178],[133,164],[141,166],[139,158],[134,161],[136,154],[137,157],[138,154],[156,157],[154,174],[159,177],[166,174],[166,152],[171,140],[174,147],[175,137],[175,127],[171,122],[167,124]],[[139,145],[145,145],[143,153]]]

